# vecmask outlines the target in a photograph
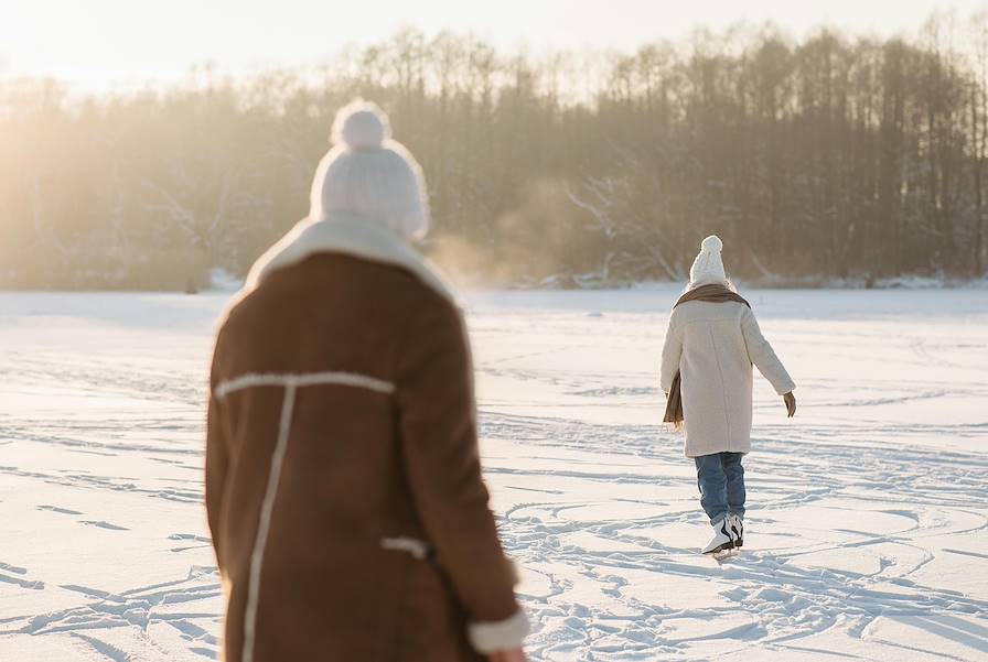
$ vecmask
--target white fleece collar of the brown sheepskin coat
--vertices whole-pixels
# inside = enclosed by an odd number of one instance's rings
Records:
[[[437,269],[404,239],[373,220],[350,214],[333,214],[319,221],[300,220],[254,263],[245,291],[259,285],[271,272],[298,264],[315,253],[344,253],[401,267],[455,303],[452,290]]]

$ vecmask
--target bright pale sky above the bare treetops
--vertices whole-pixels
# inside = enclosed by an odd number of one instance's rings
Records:
[[[213,62],[234,73],[325,59],[402,25],[472,31],[498,46],[633,50],[694,26],[772,20],[799,36],[827,24],[888,36],[935,10],[986,0],[0,0],[0,75],[85,89],[168,82]]]

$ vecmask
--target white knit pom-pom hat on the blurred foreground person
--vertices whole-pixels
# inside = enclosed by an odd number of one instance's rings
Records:
[[[333,148],[312,180],[309,218],[334,211],[373,219],[405,239],[429,230],[429,203],[422,169],[401,143],[391,140],[388,117],[357,99],[336,112]]]

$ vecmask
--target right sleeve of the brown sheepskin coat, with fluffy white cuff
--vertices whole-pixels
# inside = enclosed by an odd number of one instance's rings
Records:
[[[401,444],[416,511],[471,621],[474,648],[487,653],[519,645],[528,623],[481,477],[473,367],[460,312],[445,301],[417,306],[398,355]]]

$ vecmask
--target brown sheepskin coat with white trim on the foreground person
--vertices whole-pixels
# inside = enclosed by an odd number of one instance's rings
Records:
[[[462,317],[416,260],[362,219],[304,221],[222,322],[206,506],[227,662],[476,660],[526,632]]]

